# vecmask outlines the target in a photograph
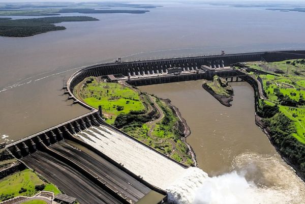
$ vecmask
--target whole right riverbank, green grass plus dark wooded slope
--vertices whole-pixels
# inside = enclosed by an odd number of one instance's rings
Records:
[[[271,141],[305,176],[305,60],[248,63],[270,74],[256,74],[263,81],[266,100],[259,100]],[[274,74],[278,75],[275,76]]]

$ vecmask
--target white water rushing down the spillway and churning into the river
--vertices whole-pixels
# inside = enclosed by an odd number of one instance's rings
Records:
[[[183,168],[113,129],[94,127],[77,136],[144,180],[166,189],[169,203],[287,204],[305,200],[304,184],[276,155],[242,154],[233,161],[236,170],[209,177],[200,168]],[[253,172],[260,174],[252,178]]]

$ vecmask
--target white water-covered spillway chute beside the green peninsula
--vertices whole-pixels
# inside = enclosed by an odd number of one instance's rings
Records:
[[[161,189],[166,189],[187,170],[145,145],[103,125],[88,128],[76,136]]]

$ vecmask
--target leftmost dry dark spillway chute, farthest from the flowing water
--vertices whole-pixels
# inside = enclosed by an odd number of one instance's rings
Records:
[[[56,184],[66,194],[76,197],[82,204],[120,204],[121,202],[97,187],[92,181],[76,169],[45,152],[37,151],[21,159],[27,166],[42,174],[51,183]]]

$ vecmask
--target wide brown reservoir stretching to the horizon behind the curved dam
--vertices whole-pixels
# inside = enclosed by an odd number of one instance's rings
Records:
[[[149,10],[77,14],[100,21],[59,23],[67,30],[32,37],[0,37],[0,142],[12,142],[87,112],[72,105],[62,90],[65,80],[82,66],[117,57],[134,61],[220,54],[222,49],[238,53],[305,48],[305,28],[299,26],[302,12],[205,4],[165,4]],[[191,124],[195,118],[187,120]],[[216,119],[209,123],[217,124]],[[209,127],[202,123],[204,128]]]

